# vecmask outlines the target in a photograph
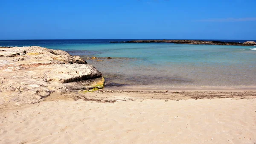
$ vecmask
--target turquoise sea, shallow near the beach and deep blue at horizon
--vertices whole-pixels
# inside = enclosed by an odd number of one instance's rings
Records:
[[[106,88],[256,86],[256,46],[111,41],[129,40],[0,40],[0,46],[36,45],[81,56],[103,73]]]

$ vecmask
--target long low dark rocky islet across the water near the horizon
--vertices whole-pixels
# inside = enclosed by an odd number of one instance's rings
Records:
[[[170,42],[176,44],[190,44],[190,45],[242,45],[242,46],[253,46],[256,42],[247,41],[244,43],[239,42],[221,42],[221,41],[204,41],[204,40],[131,40],[122,41],[123,43],[152,43],[152,42]],[[111,43],[116,43],[111,42]]]

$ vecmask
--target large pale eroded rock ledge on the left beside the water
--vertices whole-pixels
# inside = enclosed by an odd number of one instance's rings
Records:
[[[41,102],[52,92],[103,88],[102,73],[79,56],[38,46],[0,47],[0,108]]]

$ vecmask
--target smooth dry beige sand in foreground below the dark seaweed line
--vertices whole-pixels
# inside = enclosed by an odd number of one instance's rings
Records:
[[[0,144],[16,143],[254,144],[256,99],[100,103],[52,96],[38,104],[1,110]]]

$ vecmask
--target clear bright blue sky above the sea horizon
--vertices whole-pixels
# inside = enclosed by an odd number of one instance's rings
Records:
[[[256,39],[256,0],[0,0],[0,40]]]

